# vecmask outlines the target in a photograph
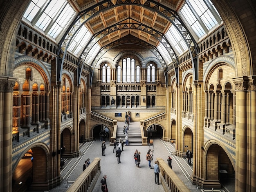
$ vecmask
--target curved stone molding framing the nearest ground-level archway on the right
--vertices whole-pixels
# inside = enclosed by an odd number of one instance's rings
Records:
[[[207,141],[206,143],[204,143],[204,179],[206,179],[206,175],[207,175],[207,173],[206,173],[206,169],[207,169],[207,163],[206,163],[206,160],[207,160],[207,152],[208,152],[208,150],[209,150],[209,148],[213,145],[213,144],[217,144],[218,146],[220,146],[224,151],[225,151],[225,153],[227,154],[227,156],[229,157],[229,160],[230,160],[230,162],[231,162],[231,164],[232,164],[232,166],[233,166],[233,168],[234,168],[234,170],[235,170],[235,172],[236,172],[236,162],[234,162],[233,161],[233,158],[231,157],[231,155],[230,155],[230,152],[227,150],[227,148],[225,148],[225,146],[224,145],[222,145],[222,143],[220,143],[219,141],[217,141],[217,140],[209,140],[209,141]]]

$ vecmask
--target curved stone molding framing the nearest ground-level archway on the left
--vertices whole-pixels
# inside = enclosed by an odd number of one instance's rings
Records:
[[[24,150],[19,155],[19,158],[16,160],[15,163],[12,164],[12,174],[14,173],[14,170],[18,166],[18,163],[20,162],[20,159],[26,154],[26,152],[29,149],[32,149],[34,147],[40,147],[45,151],[46,155],[46,176],[47,176],[47,181],[49,180],[49,155],[50,155],[50,150],[49,147],[45,143],[32,143],[31,145],[27,146]]]

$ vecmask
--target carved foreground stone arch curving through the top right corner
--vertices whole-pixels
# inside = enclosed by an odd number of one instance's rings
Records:
[[[251,38],[252,33],[250,32],[253,26],[248,23],[248,20],[256,19],[252,5],[249,2],[244,2],[243,6],[241,6],[241,1],[239,0],[212,0],[212,2],[225,24],[232,44],[236,63],[236,76],[255,75],[256,68],[252,66],[255,61],[252,62],[252,55],[255,55],[256,45]]]

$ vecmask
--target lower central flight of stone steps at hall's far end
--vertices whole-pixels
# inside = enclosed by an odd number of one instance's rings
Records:
[[[128,139],[129,145],[131,146],[142,146],[142,139],[141,139],[141,131],[139,126],[134,127],[135,125],[130,124],[130,128],[128,130]],[[119,141],[120,137],[124,140],[125,145],[125,134],[124,134],[124,125],[117,127],[117,135],[116,140]]]

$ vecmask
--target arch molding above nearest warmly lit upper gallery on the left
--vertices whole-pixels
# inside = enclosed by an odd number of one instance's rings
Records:
[[[37,71],[42,75],[45,82],[45,90],[50,91],[50,82],[51,75],[45,65],[37,60],[34,57],[30,57],[28,55],[17,57],[14,61],[14,68],[16,69],[18,66],[29,65],[37,69]]]

